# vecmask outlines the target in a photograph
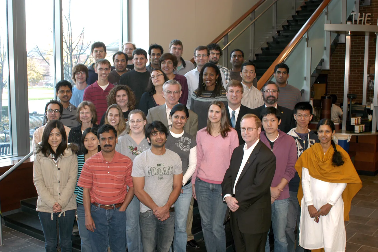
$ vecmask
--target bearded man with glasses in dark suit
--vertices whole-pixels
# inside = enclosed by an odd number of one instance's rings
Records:
[[[262,89],[262,97],[264,105],[254,108],[252,111],[256,116],[261,116],[261,111],[266,107],[275,107],[281,113],[281,124],[278,125],[279,130],[288,133],[292,128],[296,127],[293,110],[277,105],[279,88],[274,81],[266,82]]]

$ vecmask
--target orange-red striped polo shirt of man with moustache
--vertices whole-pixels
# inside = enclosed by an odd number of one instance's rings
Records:
[[[128,156],[115,152],[108,162],[98,152],[85,161],[77,186],[90,188],[91,203],[112,205],[122,203],[126,187],[133,187],[133,162]]]

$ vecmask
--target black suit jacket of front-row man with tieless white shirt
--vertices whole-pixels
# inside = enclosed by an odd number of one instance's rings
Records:
[[[222,182],[222,195],[232,195],[243,160],[244,145],[236,147]],[[259,141],[246,162],[235,186],[239,209],[231,212],[242,233],[268,232],[271,222],[270,185],[276,171],[276,156]]]

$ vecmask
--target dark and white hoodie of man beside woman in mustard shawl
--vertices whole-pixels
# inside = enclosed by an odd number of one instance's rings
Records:
[[[294,138],[296,147],[297,147],[297,159],[299,156],[302,155],[302,153],[310,148],[315,143],[319,142],[318,135],[315,134],[314,131],[308,129],[307,138],[301,139],[299,138],[298,134],[295,132],[297,128],[292,128],[287,135],[290,135]],[[304,141],[304,142],[303,142]],[[289,191],[290,192],[298,192],[299,182],[301,180],[299,179],[298,173],[295,172],[294,178],[292,178],[289,182]]]

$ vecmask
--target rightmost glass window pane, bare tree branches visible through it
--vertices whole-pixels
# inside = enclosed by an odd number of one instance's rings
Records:
[[[121,0],[107,0],[105,5],[103,0],[64,0],[62,7],[64,79],[73,83],[72,67],[77,63],[94,63],[91,45],[96,41],[105,44],[105,59],[113,65],[121,37]],[[105,10],[109,15],[101,14]]]

